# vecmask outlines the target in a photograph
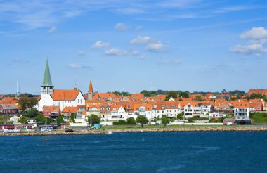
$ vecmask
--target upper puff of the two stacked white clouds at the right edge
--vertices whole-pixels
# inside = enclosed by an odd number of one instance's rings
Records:
[[[267,39],[267,29],[264,27],[252,27],[251,30],[243,32],[241,39]]]

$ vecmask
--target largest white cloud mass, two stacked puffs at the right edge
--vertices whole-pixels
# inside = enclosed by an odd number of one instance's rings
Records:
[[[256,54],[267,53],[267,48],[264,45],[267,42],[267,30],[264,27],[252,27],[251,30],[240,34],[241,39],[249,39],[246,45],[238,44],[229,48],[231,52],[243,54]]]

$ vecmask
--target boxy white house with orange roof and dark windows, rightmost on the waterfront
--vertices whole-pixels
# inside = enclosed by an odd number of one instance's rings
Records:
[[[249,119],[249,102],[248,101],[232,101],[234,107],[234,117],[236,120]]]

